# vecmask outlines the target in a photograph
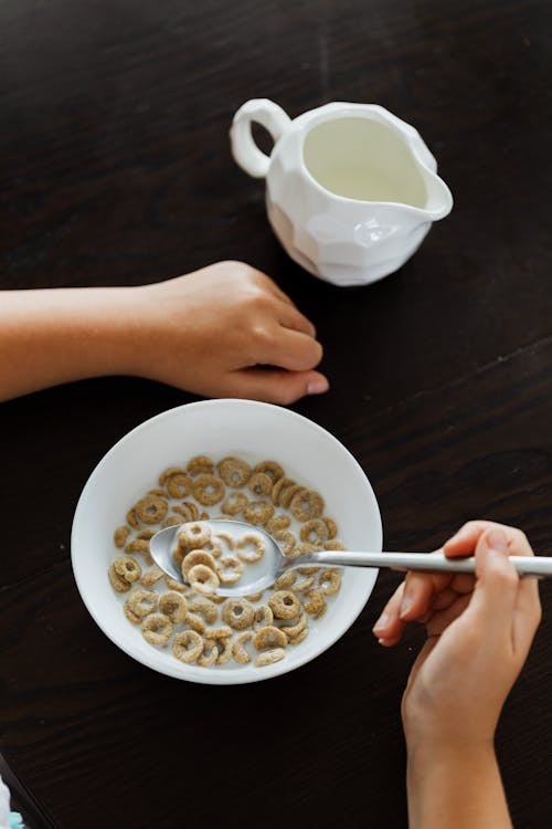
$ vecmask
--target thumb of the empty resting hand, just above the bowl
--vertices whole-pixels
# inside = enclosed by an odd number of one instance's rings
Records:
[[[306,395],[321,395],[328,389],[329,382],[319,371],[244,368],[231,372],[223,393],[287,406]]]

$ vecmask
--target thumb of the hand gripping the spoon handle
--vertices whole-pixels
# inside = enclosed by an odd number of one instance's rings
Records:
[[[488,529],[477,542],[476,576],[470,611],[480,616],[487,631],[501,630],[510,637],[519,578],[508,559],[502,529]]]

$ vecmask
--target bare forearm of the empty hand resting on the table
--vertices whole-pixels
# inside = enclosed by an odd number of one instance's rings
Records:
[[[132,370],[136,288],[0,293],[0,400]]]

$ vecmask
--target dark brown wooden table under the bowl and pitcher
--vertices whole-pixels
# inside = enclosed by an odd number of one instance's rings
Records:
[[[294,408],[362,464],[386,548],[433,548],[486,516],[550,554],[551,27],[546,0],[7,0],[0,285],[131,285],[246,260],[317,325],[331,392]],[[264,96],[291,117],[379,103],[418,127],[455,208],[399,273],[340,290],[279,249],[229,148],[235,109]],[[400,700],[423,636],[383,650],[370,632],[396,574],[314,662],[224,690],[132,661],[81,601],[70,531],[87,476],[192,399],[112,378],[0,408],[1,751],[20,802],[60,829],[405,826]],[[524,829],[551,812],[550,584],[541,595],[498,734]]]

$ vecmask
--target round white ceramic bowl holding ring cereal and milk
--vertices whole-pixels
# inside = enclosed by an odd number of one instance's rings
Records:
[[[236,455],[250,462],[278,461],[286,475],[319,491],[326,513],[349,549],[381,550],[378,503],[363,471],[347,449],[307,418],[268,403],[208,400],[162,412],[141,423],[110,449],[79,497],[71,538],[73,570],[81,596],[97,625],[134,659],[169,676],[209,684],[257,682],[290,671],[329,648],[352,625],[375,581],[375,569],[346,569],[328,612],[310,625],[309,636],[288,648],[280,662],[200,668],[179,662],[169,649],[146,642],[123,613],[125,596],[109,585],[113,533],[130,506],[157,485],[167,466],[197,454],[215,460]]]

